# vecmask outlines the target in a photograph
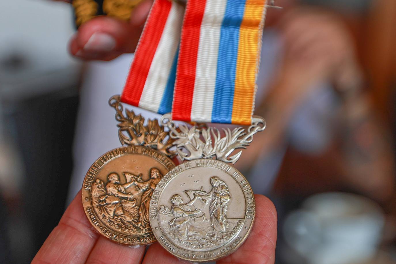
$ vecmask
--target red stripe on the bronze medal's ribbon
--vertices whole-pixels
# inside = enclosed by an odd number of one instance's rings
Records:
[[[172,3],[169,0],[156,0],[150,10],[145,28],[135,51],[135,57],[129,70],[121,101],[139,106],[145,87],[148,71],[156,53],[162,32],[168,19]]]

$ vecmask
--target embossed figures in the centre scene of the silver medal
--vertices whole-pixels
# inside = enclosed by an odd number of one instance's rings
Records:
[[[209,245],[215,247],[222,241],[230,238],[232,228],[227,220],[227,204],[231,199],[227,184],[217,176],[210,178],[211,190],[205,192],[201,186],[200,190],[185,190],[190,199],[184,203],[179,194],[170,198],[171,215],[161,210],[162,222],[166,217],[172,217],[169,221],[168,234],[174,238],[179,245],[188,245],[189,248],[203,248]],[[208,207],[208,210],[205,208]],[[209,213],[205,214],[204,211]],[[232,227],[234,228],[234,220]],[[240,225],[239,225],[240,226]],[[168,229],[168,228],[166,228]]]

